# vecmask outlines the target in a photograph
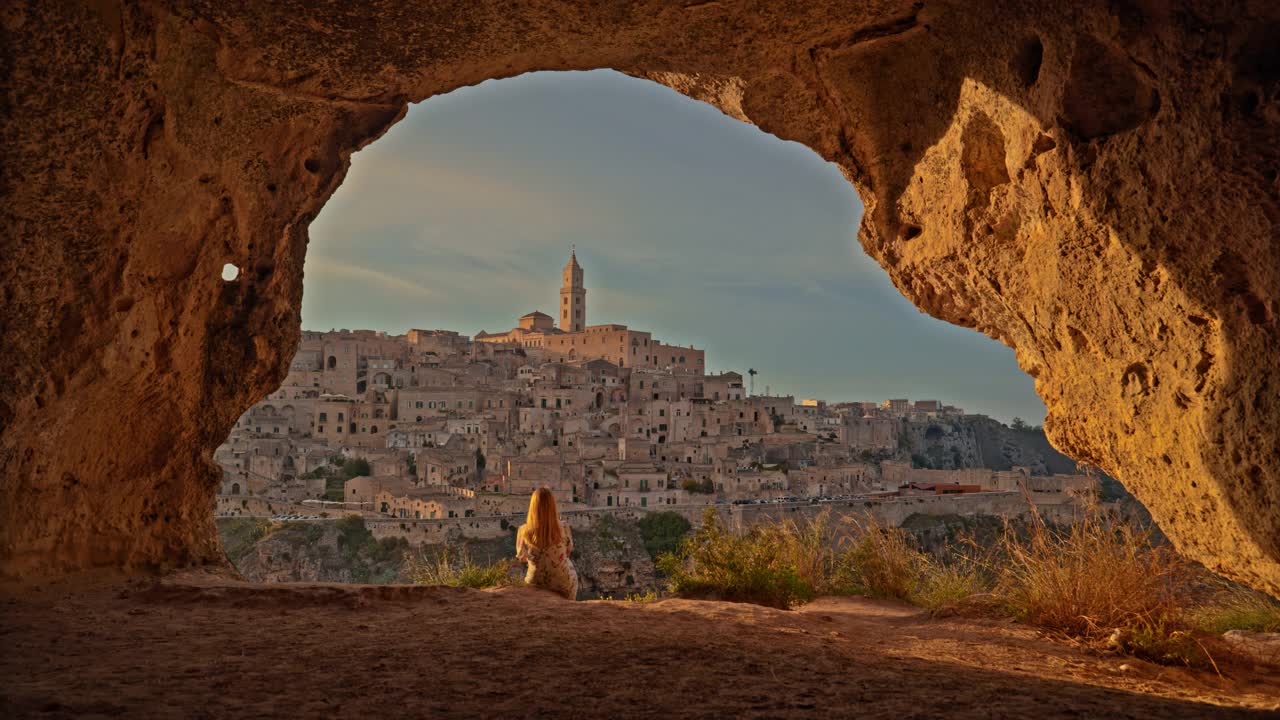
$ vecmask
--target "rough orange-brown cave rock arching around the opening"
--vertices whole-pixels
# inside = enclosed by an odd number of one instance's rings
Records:
[[[1280,593],[1276,4],[227,5],[0,9],[0,573],[223,562],[211,452],[287,370],[351,154],[408,102],[614,68],[836,163],[863,247],[1015,348],[1059,448]]]

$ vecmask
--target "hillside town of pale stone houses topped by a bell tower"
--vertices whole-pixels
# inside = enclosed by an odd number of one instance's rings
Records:
[[[823,507],[909,514],[1070,512],[1094,489],[1038,459],[991,462],[975,416],[936,400],[755,395],[705,352],[586,323],[563,270],[558,323],[502,333],[303,332],[282,386],[215,454],[221,516],[360,514],[375,534],[495,537],[550,488],[575,516],[708,505],[737,521]],[[983,419],[977,416],[978,419]],[[988,441],[987,445],[991,445]],[[1015,448],[1016,450],[1016,448]]]

